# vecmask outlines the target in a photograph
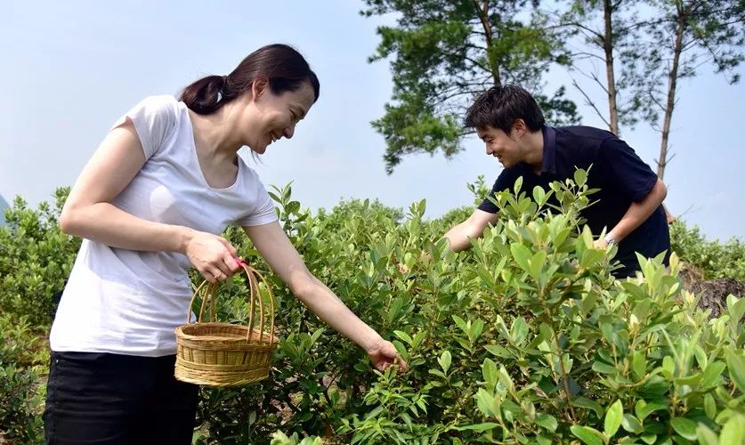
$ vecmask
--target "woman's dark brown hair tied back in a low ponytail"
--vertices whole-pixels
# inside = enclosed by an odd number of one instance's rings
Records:
[[[212,114],[251,88],[261,77],[269,80],[269,89],[274,94],[297,91],[304,82],[310,82],[313,102],[318,101],[318,77],[304,57],[287,44],[268,44],[257,49],[227,76],[200,78],[184,88],[179,99],[198,114]]]

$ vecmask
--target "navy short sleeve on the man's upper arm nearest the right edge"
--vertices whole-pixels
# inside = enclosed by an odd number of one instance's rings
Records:
[[[608,138],[600,146],[597,167],[612,188],[642,201],[657,182],[657,174],[636,155],[634,149],[618,138]]]

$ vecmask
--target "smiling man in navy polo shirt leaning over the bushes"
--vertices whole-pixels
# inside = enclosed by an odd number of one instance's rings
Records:
[[[486,143],[486,154],[498,158],[505,170],[491,192],[512,189],[522,176],[522,190],[573,177],[577,168],[588,170],[587,185],[600,189],[591,196],[599,200],[583,216],[595,235],[606,230],[595,247],[618,245],[615,257],[621,263],[616,277],[633,276],[639,269],[636,252],[652,257],[667,251],[670,239],[662,200],[667,194],[652,169],[636,156],[626,142],[608,131],[589,126],[550,127],[530,93],[517,85],[490,88],[468,109],[466,127],[475,128]],[[590,168],[592,166],[592,168]],[[498,208],[489,199],[466,221],[445,233],[452,250],[471,246],[495,223]]]

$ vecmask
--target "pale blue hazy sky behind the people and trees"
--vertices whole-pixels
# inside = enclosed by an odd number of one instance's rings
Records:
[[[255,166],[266,184],[293,181],[304,206],[340,198],[379,198],[407,207],[427,199],[437,216],[472,198],[466,182],[501,166],[474,138],[456,158],[405,158],[386,175],[385,142],[369,125],[391,95],[389,65],[368,64],[381,21],[358,13],[361,2],[196,1],[5,2],[0,18],[0,194],[32,205],[71,185],[109,126],[150,94],[177,93],[208,74],[227,74],[263,44],[294,45],[320,77],[320,100],[291,141],[271,145]],[[745,238],[741,134],[745,87],[711,74],[684,80],[673,118],[668,207],[709,239]],[[745,74],[745,69],[740,72]],[[745,77],[745,76],[743,76]],[[568,85],[554,70],[547,83]],[[603,126],[587,107],[586,125]],[[624,139],[650,165],[660,136],[637,125]]]

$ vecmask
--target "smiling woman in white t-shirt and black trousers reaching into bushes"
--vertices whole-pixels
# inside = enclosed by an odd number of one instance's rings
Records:
[[[318,95],[303,56],[272,44],[228,76],[187,86],[181,101],[145,99],[113,126],[60,218],[84,241],[50,336],[48,443],[190,443],[198,387],[174,379],[174,329],[189,305],[190,266],[211,282],[239,271],[220,237],[229,224],[377,368],[406,366],[307,270],[237,154],[291,138]]]

